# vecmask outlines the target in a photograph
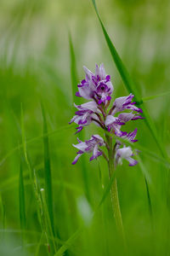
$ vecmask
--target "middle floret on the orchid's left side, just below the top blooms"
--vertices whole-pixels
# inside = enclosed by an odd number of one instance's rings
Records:
[[[82,131],[82,127],[89,125],[92,122],[99,122],[97,113],[100,113],[96,102],[87,102],[82,105],[76,105],[78,109],[76,115],[71,119],[71,123],[75,122],[77,125],[77,132]],[[98,123],[97,123],[98,125]]]

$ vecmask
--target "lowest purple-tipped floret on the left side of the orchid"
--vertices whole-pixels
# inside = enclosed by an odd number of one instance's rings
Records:
[[[77,141],[77,145],[73,144],[73,146],[78,149],[78,152],[77,156],[72,162],[72,165],[75,165],[79,157],[84,153],[93,152],[93,155],[90,157],[90,161],[98,158],[99,155],[102,154],[102,152],[99,150],[99,147],[103,146],[105,142],[104,139],[100,137],[98,134],[93,135],[88,141],[85,141],[84,143],[80,141],[78,138]]]

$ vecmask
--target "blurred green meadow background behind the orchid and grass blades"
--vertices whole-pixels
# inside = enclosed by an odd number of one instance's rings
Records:
[[[99,0],[99,13],[127,70],[138,85],[141,96],[152,96],[169,90],[170,84],[170,2],[168,0]],[[43,187],[42,110],[45,108],[49,131],[55,233],[59,247],[80,225],[81,234],[69,244],[63,255],[123,255],[121,241],[111,212],[110,196],[93,219],[108,183],[105,161],[89,163],[83,156],[76,166],[71,146],[76,143],[75,126],[68,125],[72,115],[71,33],[77,59],[78,79],[84,77],[82,66],[94,71],[103,62],[111,74],[115,96],[126,96],[127,90],[111,59],[99,20],[88,0],[11,0],[0,1],[0,190],[1,247],[22,252],[20,235],[20,104],[24,112],[27,152]],[[169,96],[146,102],[158,136],[169,153]],[[136,126],[135,126],[136,125]],[[139,144],[160,154],[143,121],[129,125],[139,128]],[[98,132],[91,125],[84,132],[88,139]],[[170,255],[168,172],[160,162],[140,154],[142,166],[119,167],[118,190],[122,218],[127,236],[128,255]],[[143,170],[148,179],[152,219]],[[47,241],[42,240],[37,201],[32,197],[28,167],[24,169],[26,195],[25,253],[48,255]],[[39,253],[37,246],[40,243]],[[10,245],[10,246],[9,246]],[[8,248],[9,250],[9,248]],[[10,250],[9,250],[10,251]],[[9,253],[9,254],[8,254]],[[21,253],[21,255],[25,255]],[[62,254],[60,254],[62,255]]]

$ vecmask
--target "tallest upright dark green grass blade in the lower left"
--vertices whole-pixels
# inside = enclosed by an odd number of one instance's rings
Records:
[[[48,125],[45,115],[45,110],[42,106],[42,119],[43,119],[43,149],[44,149],[44,182],[45,182],[45,195],[48,206],[48,214],[54,233],[54,207],[53,207],[53,190],[52,190],[52,177],[51,177],[51,163],[49,154],[49,142],[48,142]]]

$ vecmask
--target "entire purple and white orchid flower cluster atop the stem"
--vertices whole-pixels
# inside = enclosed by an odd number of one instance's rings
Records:
[[[129,162],[129,166],[135,166],[137,161],[133,159],[133,150],[126,147],[125,143],[120,142],[119,138],[122,137],[130,143],[135,143],[137,129],[131,132],[122,131],[123,125],[130,120],[143,119],[140,115],[142,109],[135,106],[133,102],[133,95],[122,96],[116,98],[111,104],[111,95],[113,93],[113,85],[111,84],[111,76],[106,75],[105,67],[103,64],[96,65],[95,74],[83,67],[86,73],[86,79],[83,79],[77,85],[78,91],[76,96],[83,97],[90,102],[81,105],[76,105],[77,112],[71,119],[71,123],[75,122],[77,132],[82,131],[84,126],[94,123],[100,126],[105,131],[105,140],[99,135],[93,135],[88,141],[84,143],[78,138],[78,144],[73,146],[78,149],[77,156],[72,164],[76,164],[79,157],[84,153],[91,153],[90,160],[94,160],[99,155],[103,155],[108,160],[102,146],[112,152],[112,159],[115,165],[122,164],[122,159]],[[110,106],[111,105],[111,106]],[[112,144],[112,138],[115,136],[115,145]]]

